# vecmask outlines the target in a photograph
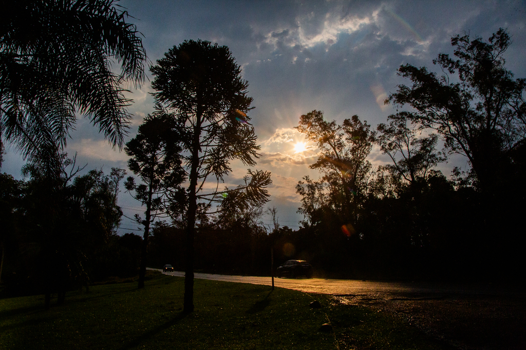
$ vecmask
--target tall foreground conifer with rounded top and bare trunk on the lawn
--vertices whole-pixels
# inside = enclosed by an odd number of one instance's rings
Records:
[[[196,217],[217,208],[221,214],[238,213],[249,206],[264,205],[270,173],[251,171],[245,184],[219,190],[219,182],[232,172],[230,162],[256,165],[260,146],[246,114],[252,98],[248,82],[241,79],[228,47],[209,41],[185,40],[174,46],[150,68],[155,76],[158,111],[177,121],[178,142],[188,178],[186,192],[186,268],[184,311],[194,310],[194,237]],[[214,177],[216,189],[205,186]],[[210,213],[211,214],[211,213]]]

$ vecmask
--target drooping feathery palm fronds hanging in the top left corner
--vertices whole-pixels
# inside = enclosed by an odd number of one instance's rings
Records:
[[[114,0],[5,5],[0,14],[0,143],[12,143],[32,161],[57,168],[50,161],[66,146],[79,112],[120,149],[131,118],[123,84],[144,82],[146,60],[135,25],[126,23],[127,12]],[[120,72],[112,70],[112,63]]]

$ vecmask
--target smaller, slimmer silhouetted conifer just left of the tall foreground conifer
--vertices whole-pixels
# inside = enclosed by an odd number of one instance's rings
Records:
[[[144,225],[143,247],[139,270],[138,288],[144,288],[146,259],[150,224],[161,214],[166,213],[168,192],[179,194],[184,200],[179,186],[185,179],[181,168],[176,122],[166,114],[148,115],[139,126],[138,134],[126,143],[125,152],[130,156],[129,169],[139,176],[143,184],[136,185],[134,177],[125,182],[128,192],[135,191],[134,198],[146,205],[145,219],[136,215],[136,220]],[[176,198],[171,198],[176,200]]]

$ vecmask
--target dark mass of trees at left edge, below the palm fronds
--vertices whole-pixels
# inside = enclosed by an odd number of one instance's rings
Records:
[[[125,171],[109,175],[94,169],[77,175],[75,158],[62,157],[60,177],[50,178],[35,163],[18,181],[0,175],[2,266],[5,295],[52,294],[63,303],[71,288],[89,289],[95,281],[137,273],[139,236],[116,235],[123,212],[117,205]]]

